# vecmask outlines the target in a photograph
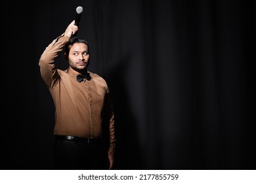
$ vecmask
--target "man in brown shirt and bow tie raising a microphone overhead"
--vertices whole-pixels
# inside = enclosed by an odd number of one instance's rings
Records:
[[[89,45],[74,37],[78,30],[74,23],[39,59],[55,107],[54,164],[56,169],[112,169],[116,139],[109,88],[102,77],[87,71]],[[54,63],[63,48],[65,71]]]

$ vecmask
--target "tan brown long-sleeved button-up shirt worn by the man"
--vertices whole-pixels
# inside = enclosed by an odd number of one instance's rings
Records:
[[[114,112],[106,81],[95,73],[91,80],[77,82],[76,71],[56,68],[54,59],[69,38],[54,39],[39,59],[43,81],[49,88],[55,107],[54,135],[109,138],[109,154],[114,154]]]

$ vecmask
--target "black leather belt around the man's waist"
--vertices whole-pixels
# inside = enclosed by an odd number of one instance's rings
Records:
[[[70,135],[55,135],[58,140],[68,140],[74,142],[85,142],[86,144],[100,144],[103,142],[103,139],[99,138],[83,138],[83,137],[75,137]]]

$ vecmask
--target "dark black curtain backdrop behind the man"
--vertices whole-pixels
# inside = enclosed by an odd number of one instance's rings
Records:
[[[38,61],[78,6],[89,70],[114,102],[114,169],[256,168],[255,1],[7,3],[1,169],[54,169],[54,107]],[[62,55],[56,64],[66,69]]]

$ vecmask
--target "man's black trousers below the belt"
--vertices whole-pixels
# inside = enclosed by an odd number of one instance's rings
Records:
[[[54,165],[58,170],[106,170],[108,149],[104,143],[55,138]]]

